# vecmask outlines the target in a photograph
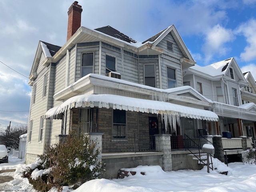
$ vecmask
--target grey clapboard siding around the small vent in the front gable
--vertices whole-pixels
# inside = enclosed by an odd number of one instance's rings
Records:
[[[172,48],[173,48],[173,51],[170,51],[167,49],[167,42],[170,42],[172,43]],[[182,58],[184,57],[184,55],[182,54],[178,44],[176,43],[176,41],[174,40],[173,36],[171,33],[169,33],[168,35],[166,35],[162,41],[160,41],[158,44],[157,44],[158,47],[164,49],[164,54],[167,54],[167,55],[172,55],[176,58]]]

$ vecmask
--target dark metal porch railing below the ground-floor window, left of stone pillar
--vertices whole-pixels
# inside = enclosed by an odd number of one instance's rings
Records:
[[[102,136],[102,153],[147,152],[156,151],[156,139],[148,134],[104,134]]]

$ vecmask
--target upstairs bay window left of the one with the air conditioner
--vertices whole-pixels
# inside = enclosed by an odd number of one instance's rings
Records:
[[[93,53],[82,54],[81,77],[93,73]]]

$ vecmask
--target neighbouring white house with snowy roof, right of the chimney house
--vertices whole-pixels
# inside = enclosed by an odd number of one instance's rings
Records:
[[[248,83],[248,80],[252,83]],[[211,110],[218,115],[219,122],[215,128],[208,125],[207,132],[210,135],[223,136],[224,152],[228,155],[237,154],[251,147],[256,97],[248,91],[252,91],[255,82],[252,76],[249,79],[242,74],[234,58],[204,67],[195,65],[184,69],[183,83],[212,100]],[[242,140],[245,140],[244,146]]]

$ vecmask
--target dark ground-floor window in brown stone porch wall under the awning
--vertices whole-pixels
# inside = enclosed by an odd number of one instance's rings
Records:
[[[113,110],[113,138],[125,139],[126,138],[126,111]]]

